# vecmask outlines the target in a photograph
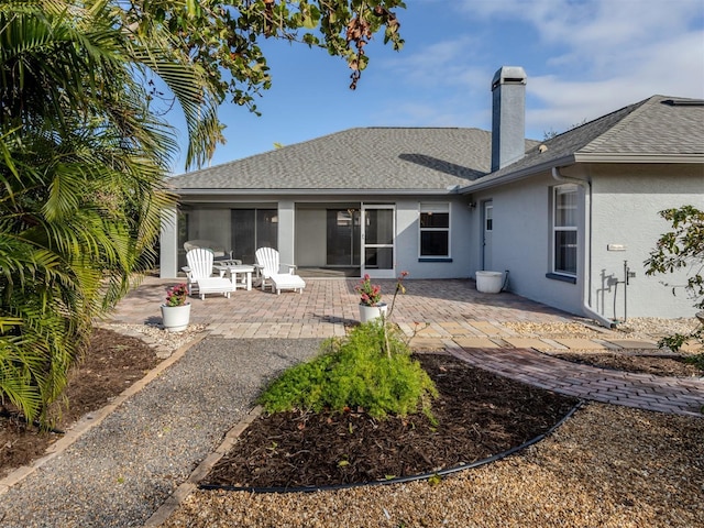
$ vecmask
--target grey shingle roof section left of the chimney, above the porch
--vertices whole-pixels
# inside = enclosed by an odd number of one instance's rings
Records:
[[[176,189],[447,190],[490,169],[479,129],[358,128],[170,178]]]

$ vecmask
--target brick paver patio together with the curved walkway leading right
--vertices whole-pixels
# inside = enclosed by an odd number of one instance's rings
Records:
[[[306,279],[302,294],[238,290],[230,299],[191,299],[191,322],[207,323],[211,336],[263,339],[344,336],[359,319],[356,279]],[[391,302],[394,280],[375,280]],[[111,322],[161,322],[160,304],[174,280],[147,277],[123,300]],[[446,349],[482,369],[584,399],[650,410],[702,416],[704,378],[674,378],[579,365],[537,351],[631,351],[656,349],[652,341],[624,340],[601,329],[593,339],[520,337],[505,322],[586,322],[508,293],[476,292],[473,280],[406,280],[394,322],[418,350]]]

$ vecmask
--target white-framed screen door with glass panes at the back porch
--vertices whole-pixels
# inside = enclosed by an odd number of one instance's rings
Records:
[[[361,272],[373,278],[394,278],[396,209],[394,206],[362,206]]]

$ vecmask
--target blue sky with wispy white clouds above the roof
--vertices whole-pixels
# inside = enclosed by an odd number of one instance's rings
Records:
[[[397,12],[404,50],[375,38],[355,91],[341,58],[266,41],[273,87],[256,101],[263,116],[224,103],[228,142],[211,165],[354,127],[491,130],[490,85],[504,65],[528,75],[526,135],[537,140],[652,95],[704,98],[704,0],[406,6]],[[179,160],[174,174],[183,167]]]

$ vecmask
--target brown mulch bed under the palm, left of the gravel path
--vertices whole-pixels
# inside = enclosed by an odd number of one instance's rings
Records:
[[[86,413],[98,410],[160,363],[144,341],[111,330],[96,329],[82,363],[70,375],[69,406],[56,424],[67,429]],[[0,479],[44,455],[61,435],[43,432],[15,409],[0,406]]]

